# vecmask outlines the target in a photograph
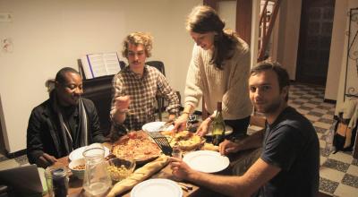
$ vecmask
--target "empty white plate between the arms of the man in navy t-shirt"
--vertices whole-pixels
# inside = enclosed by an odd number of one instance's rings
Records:
[[[230,161],[226,156],[217,151],[198,150],[185,154],[183,161],[193,169],[204,173],[219,172],[229,166]]]

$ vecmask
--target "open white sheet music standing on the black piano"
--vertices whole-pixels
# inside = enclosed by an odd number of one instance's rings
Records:
[[[116,74],[121,71],[116,52],[82,56],[81,64],[86,79]]]

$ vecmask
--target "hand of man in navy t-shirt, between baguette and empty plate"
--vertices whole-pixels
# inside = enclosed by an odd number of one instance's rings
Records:
[[[173,176],[178,179],[188,179],[189,175],[194,172],[194,170],[180,158],[169,158],[169,162]]]

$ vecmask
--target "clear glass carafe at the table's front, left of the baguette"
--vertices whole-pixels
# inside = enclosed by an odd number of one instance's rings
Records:
[[[83,178],[83,188],[91,196],[103,196],[112,185],[107,172],[105,149],[99,143],[93,143],[83,151],[86,168]]]

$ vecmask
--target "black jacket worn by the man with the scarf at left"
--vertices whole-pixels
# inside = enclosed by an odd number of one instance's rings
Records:
[[[105,137],[99,127],[98,114],[95,105],[90,99],[83,99],[83,105],[88,116],[88,141],[103,142]],[[30,115],[27,130],[27,156],[29,162],[36,163],[38,157],[44,152],[62,158],[67,155],[64,147],[61,146],[59,118],[54,110],[54,99],[50,99],[35,107]]]

